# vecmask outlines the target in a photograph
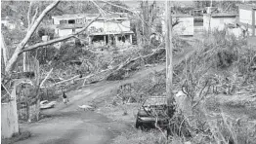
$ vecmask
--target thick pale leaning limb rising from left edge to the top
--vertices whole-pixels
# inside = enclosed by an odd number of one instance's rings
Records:
[[[45,8],[45,10],[42,12],[42,14],[35,20],[35,22],[31,25],[30,29],[27,31],[25,37],[21,41],[21,43],[17,46],[15,53],[12,55],[10,60],[7,62],[6,66],[6,73],[10,73],[13,69],[14,64],[17,62],[19,54],[21,54],[22,49],[28,42],[28,40],[31,38],[32,34],[38,27],[38,25],[41,23],[42,19],[52,10],[54,9],[58,4],[60,3],[60,0],[53,2],[49,6]]]

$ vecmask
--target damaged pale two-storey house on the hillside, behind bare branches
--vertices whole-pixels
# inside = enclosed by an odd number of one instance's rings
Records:
[[[82,29],[98,14],[72,14],[54,16],[53,24],[57,36],[66,36]],[[94,46],[131,45],[134,34],[130,28],[130,19],[127,14],[112,14],[100,17],[94,21],[84,32],[86,41]]]

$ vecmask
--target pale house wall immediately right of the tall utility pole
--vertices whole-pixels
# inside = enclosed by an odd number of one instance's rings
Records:
[[[193,35],[193,18],[178,18],[180,23],[173,27],[173,32],[178,35]]]

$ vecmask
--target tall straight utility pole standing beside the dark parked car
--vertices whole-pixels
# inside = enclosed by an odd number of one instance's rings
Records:
[[[173,67],[172,67],[172,18],[171,18],[171,2],[170,0],[165,0],[165,22],[166,22],[166,33],[165,33],[165,51],[166,51],[166,96],[168,107],[173,104],[173,94],[172,94],[172,77],[173,77]]]

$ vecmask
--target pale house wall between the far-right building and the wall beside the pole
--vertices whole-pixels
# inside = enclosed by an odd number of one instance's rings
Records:
[[[205,30],[224,30],[225,25],[228,23],[235,23],[235,18],[210,18],[209,16],[203,16],[203,27]]]

